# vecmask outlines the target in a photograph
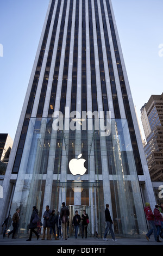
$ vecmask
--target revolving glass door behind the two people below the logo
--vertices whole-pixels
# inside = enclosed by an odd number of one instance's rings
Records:
[[[73,217],[75,215],[76,210],[78,210],[78,214],[82,218],[83,210],[86,211],[86,214],[89,216],[90,223],[87,225],[87,237],[92,236],[91,234],[91,208],[88,205],[69,205],[68,206],[70,210],[70,216],[69,216],[69,230],[68,234],[69,236],[74,236],[74,226],[72,225]],[[82,221],[80,222],[79,229],[78,229],[78,236],[82,237]],[[84,236],[85,236],[85,230],[84,230]]]

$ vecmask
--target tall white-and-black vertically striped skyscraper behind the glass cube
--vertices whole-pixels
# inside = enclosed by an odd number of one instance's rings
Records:
[[[155,205],[110,0],[50,0],[7,175],[10,213],[61,203],[89,215],[103,235],[105,204],[120,235],[146,230],[143,200]],[[142,193],[142,194],[141,194]],[[143,198],[143,200],[142,200]],[[2,213],[2,212],[1,212]]]

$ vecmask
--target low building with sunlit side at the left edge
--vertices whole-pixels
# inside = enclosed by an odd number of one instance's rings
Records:
[[[9,155],[13,145],[8,133],[0,133],[0,175],[4,175],[9,162]]]

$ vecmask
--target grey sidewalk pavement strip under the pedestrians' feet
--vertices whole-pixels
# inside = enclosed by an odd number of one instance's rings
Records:
[[[116,245],[116,246],[122,246],[122,245],[163,245],[163,240],[160,239],[161,242],[155,242],[154,240],[154,236],[151,236],[151,239],[149,241],[147,241],[146,237],[142,237],[142,238],[118,238],[117,237],[117,241],[112,241],[111,238],[108,238],[108,241],[104,241],[101,238],[96,238],[94,239],[93,237],[87,237],[87,239],[82,239],[82,237],[78,237],[78,239],[75,239],[74,237],[69,237],[67,240],[36,240],[35,235],[33,235],[32,237],[32,241],[26,241],[26,239],[24,238],[19,238],[19,239],[11,239],[11,237],[5,237],[3,239],[2,235],[0,237],[0,245],[18,245],[18,246],[22,246],[22,245],[57,245],[58,248],[60,247],[70,247],[70,246],[96,246],[96,247],[101,247],[101,246],[110,246],[110,245]]]

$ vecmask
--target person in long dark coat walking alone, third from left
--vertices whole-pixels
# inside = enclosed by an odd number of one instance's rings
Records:
[[[39,214],[39,211],[37,210],[36,206],[33,206],[33,212],[30,217],[30,224],[29,224],[29,229],[30,229],[29,239],[27,239],[26,241],[32,240],[32,233],[34,233],[37,236],[37,240],[39,239],[39,234],[35,230],[35,228],[37,228],[37,222],[39,222],[40,220],[38,214]]]

